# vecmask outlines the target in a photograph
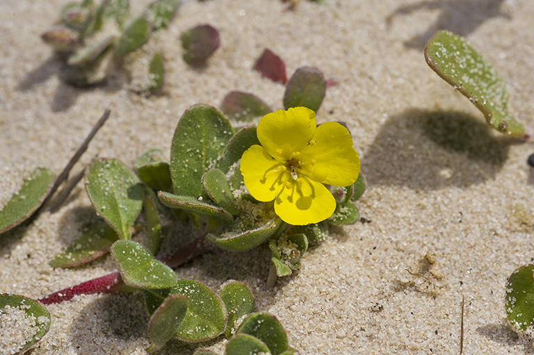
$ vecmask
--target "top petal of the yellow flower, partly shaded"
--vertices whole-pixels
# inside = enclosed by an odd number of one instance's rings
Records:
[[[293,107],[268,113],[259,120],[257,135],[271,156],[289,160],[293,152],[307,147],[316,130],[315,113],[309,108]]]

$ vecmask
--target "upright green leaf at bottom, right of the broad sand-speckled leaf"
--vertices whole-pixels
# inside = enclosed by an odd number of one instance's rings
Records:
[[[225,336],[230,338],[236,332],[241,318],[256,310],[256,302],[254,302],[250,288],[234,280],[223,283],[219,297],[223,300],[228,312]]]

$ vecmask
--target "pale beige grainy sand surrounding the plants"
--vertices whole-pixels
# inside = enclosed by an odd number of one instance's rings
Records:
[[[320,68],[327,90],[318,122],[345,121],[369,184],[357,202],[368,223],[312,248],[300,272],[265,288],[270,251],[207,254],[179,277],[216,290],[247,283],[260,311],[280,318],[301,354],[531,354],[505,321],[504,286],[533,261],[532,142],[494,134],[467,99],[426,65],[423,45],[439,28],[467,37],[509,85],[510,110],[534,127],[534,3],[531,0],[184,1],[159,40],[167,63],[160,97],[143,98],[119,79],[93,89],[58,79],[60,61],[40,40],[69,0],[0,3],[0,191],[10,194],[24,166],[60,172],[92,125],[108,123],[76,165],[92,156],[132,166],[147,149],[168,151],[181,114],[219,106],[230,90],[282,108],[284,87],[252,70],[264,48],[298,68]],[[139,14],[146,2],[131,1]],[[179,35],[196,24],[220,31],[204,69],[181,60]],[[56,252],[90,213],[83,184],[57,213],[0,238],[0,292],[42,297],[114,270],[104,257],[52,269]],[[412,275],[427,252],[441,279]],[[52,326],[32,354],[145,354],[147,315],[138,294],[91,295],[49,306]],[[222,349],[224,340],[203,344]],[[172,340],[158,354],[191,354]]]

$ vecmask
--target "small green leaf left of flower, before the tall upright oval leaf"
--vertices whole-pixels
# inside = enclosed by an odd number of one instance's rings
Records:
[[[219,169],[208,170],[204,176],[202,176],[202,186],[209,197],[211,197],[213,201],[216,201],[216,203],[224,210],[232,213],[232,215],[241,213],[236,208],[236,199],[234,194],[232,194],[232,189],[230,188],[224,172]]]

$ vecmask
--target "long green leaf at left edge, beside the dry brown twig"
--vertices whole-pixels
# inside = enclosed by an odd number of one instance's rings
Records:
[[[24,179],[19,192],[0,210],[0,233],[21,224],[41,206],[50,192],[54,176],[51,170],[38,167]]]

